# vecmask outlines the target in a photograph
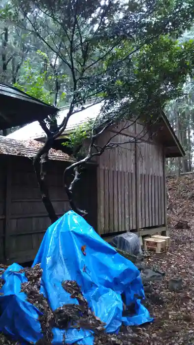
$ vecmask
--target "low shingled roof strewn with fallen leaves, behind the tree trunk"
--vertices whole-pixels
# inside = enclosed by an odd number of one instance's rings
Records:
[[[0,154],[32,158],[43,146],[36,140],[15,140],[0,136]],[[72,162],[73,158],[62,151],[50,149],[49,159]]]

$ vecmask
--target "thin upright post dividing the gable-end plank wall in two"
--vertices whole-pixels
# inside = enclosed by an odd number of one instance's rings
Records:
[[[135,134],[136,133],[136,122],[135,122]],[[139,235],[139,160],[137,152],[137,142],[135,139],[135,215],[136,215],[136,231]]]

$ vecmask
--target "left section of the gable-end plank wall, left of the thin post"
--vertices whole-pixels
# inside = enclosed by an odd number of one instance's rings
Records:
[[[109,137],[108,137],[109,136]],[[100,145],[112,133],[101,138]],[[124,135],[114,138],[125,142]],[[134,143],[106,150],[98,159],[98,232],[107,234],[136,228],[135,216],[135,155]]]

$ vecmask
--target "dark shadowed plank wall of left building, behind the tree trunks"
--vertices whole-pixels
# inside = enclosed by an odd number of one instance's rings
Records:
[[[0,169],[0,256],[10,261],[30,261],[39,248],[50,220],[41,201],[31,160],[5,156],[1,161],[5,169]],[[48,165],[50,197],[58,216],[70,209],[62,184],[65,165],[65,162],[57,161],[49,162]],[[86,170],[77,193],[81,195],[77,199],[78,206],[89,211],[90,217],[87,220],[94,226],[97,223],[95,177],[94,169],[92,173]]]

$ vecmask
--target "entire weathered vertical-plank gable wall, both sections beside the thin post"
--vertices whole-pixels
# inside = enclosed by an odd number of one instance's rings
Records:
[[[122,126],[119,125],[115,130],[121,130]],[[136,230],[137,225],[139,228],[148,228],[165,223],[163,148],[153,140],[147,142],[149,134],[145,126],[139,123],[130,124],[124,133],[117,135],[114,142],[126,142],[130,138],[131,142],[106,150],[98,159],[100,234]],[[103,146],[113,134],[114,130],[106,132],[98,144]],[[140,140],[135,148],[134,138],[137,134]],[[139,214],[136,214],[137,206]]]

